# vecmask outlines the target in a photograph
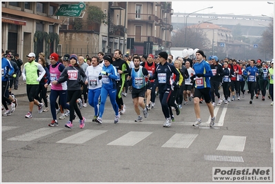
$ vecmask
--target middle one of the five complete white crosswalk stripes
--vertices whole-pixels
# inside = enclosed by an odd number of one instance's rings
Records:
[[[108,145],[133,146],[136,143],[139,143],[140,141],[145,139],[150,134],[152,134],[152,132],[129,132],[128,134],[121,136],[119,139],[116,139],[116,140],[112,141],[111,143],[108,143]]]

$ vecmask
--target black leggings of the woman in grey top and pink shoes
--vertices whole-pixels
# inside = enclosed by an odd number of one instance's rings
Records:
[[[68,90],[68,98],[70,99],[70,122],[74,119],[74,110],[79,116],[80,120],[83,120],[82,114],[77,106],[77,99],[81,94],[81,90]]]

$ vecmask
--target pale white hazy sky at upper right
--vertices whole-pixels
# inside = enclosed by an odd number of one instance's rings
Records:
[[[172,1],[172,9],[174,12],[191,13],[203,8],[211,7],[201,10],[197,13],[216,13],[216,14],[251,14],[259,15],[265,14],[269,17],[274,17],[274,1]]]

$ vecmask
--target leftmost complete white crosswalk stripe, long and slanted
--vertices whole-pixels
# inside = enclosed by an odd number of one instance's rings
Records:
[[[38,130],[34,130],[32,132],[22,134],[21,136],[14,136],[14,137],[12,137],[10,139],[7,139],[7,140],[8,141],[33,141],[34,139],[39,139],[43,136],[46,136],[48,134],[52,134],[52,133],[57,132],[59,130],[63,130],[63,128],[42,127]]]

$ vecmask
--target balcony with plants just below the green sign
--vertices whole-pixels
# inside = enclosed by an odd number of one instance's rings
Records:
[[[91,23],[89,21],[67,21],[59,28],[61,31],[81,31],[81,32],[100,32],[99,23]]]

